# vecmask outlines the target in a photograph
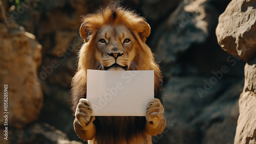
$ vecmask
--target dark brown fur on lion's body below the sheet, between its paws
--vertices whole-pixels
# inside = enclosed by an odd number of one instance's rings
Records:
[[[96,135],[89,143],[148,143],[144,116],[96,116]]]

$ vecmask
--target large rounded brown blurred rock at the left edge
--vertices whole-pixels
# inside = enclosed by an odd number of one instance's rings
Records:
[[[1,22],[0,27],[0,83],[8,85],[8,108],[1,103],[0,112],[9,112],[8,126],[23,128],[37,119],[43,104],[37,78],[42,46],[15,22]],[[3,126],[4,119],[0,121]]]

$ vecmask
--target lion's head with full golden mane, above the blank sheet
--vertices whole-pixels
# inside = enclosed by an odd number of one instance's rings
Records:
[[[78,68],[98,70],[158,69],[146,38],[150,26],[124,9],[106,8],[83,19]]]

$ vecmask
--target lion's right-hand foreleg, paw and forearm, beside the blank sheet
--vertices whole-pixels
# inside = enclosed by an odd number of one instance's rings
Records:
[[[146,132],[150,135],[157,135],[163,132],[166,120],[163,116],[163,105],[158,99],[150,101],[146,108]]]

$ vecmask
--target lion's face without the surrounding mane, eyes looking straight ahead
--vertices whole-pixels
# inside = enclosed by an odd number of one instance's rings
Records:
[[[125,26],[102,26],[95,36],[96,69],[134,69],[138,42]]]

